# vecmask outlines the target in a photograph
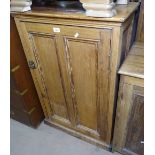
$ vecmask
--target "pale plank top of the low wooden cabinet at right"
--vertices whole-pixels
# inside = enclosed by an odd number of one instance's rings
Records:
[[[136,42],[132,46],[119,74],[144,79],[144,43]]]

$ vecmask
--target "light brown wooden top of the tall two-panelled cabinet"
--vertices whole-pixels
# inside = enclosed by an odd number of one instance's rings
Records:
[[[84,11],[60,10],[49,7],[35,7],[28,12],[13,12],[13,16],[31,16],[31,17],[46,17],[46,18],[63,18],[63,19],[80,19],[91,21],[105,22],[125,22],[126,19],[138,8],[139,3],[130,2],[128,5],[116,5],[117,15],[112,18],[96,18],[88,17]]]

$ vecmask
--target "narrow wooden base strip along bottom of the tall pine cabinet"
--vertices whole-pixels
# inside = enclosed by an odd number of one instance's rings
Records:
[[[47,125],[55,127],[57,129],[60,129],[60,130],[62,130],[64,132],[66,132],[66,133],[68,133],[68,134],[70,134],[70,135],[72,135],[74,137],[77,137],[79,139],[82,139],[82,140],[84,140],[84,141],[86,141],[86,142],[88,142],[90,144],[96,145],[96,146],[98,146],[100,148],[103,148],[103,149],[105,149],[107,151],[111,151],[111,145],[108,145],[108,144],[106,144],[106,143],[104,143],[102,141],[91,138],[91,137],[89,137],[87,135],[84,135],[84,134],[82,134],[80,132],[77,132],[77,131],[75,131],[73,129],[62,126],[62,125],[60,125],[58,123],[52,122],[51,120],[48,120],[48,119],[45,119],[44,122]]]

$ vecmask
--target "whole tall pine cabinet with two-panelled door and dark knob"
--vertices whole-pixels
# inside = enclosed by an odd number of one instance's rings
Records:
[[[137,7],[117,6],[113,18],[52,8],[12,14],[48,124],[111,148],[117,70]]]

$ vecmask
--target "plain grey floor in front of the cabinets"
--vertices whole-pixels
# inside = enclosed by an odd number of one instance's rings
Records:
[[[11,120],[11,155],[120,155],[42,123],[37,129]]]

